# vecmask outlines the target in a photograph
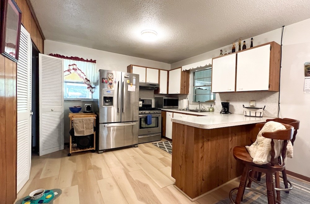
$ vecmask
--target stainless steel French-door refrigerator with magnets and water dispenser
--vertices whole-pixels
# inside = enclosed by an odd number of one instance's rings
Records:
[[[98,153],[137,145],[139,75],[100,69],[93,98],[99,117]]]

